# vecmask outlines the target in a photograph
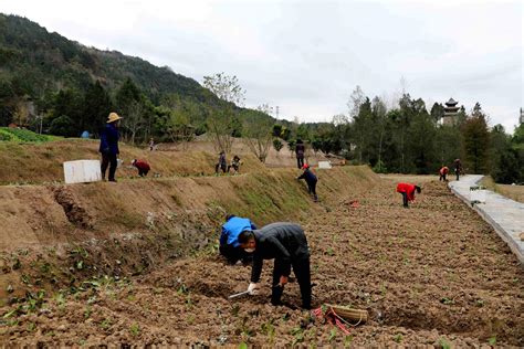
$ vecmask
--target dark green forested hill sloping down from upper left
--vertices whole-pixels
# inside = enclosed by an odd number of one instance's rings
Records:
[[[107,89],[133,82],[155,104],[165,94],[216,103],[195,80],[139,57],[99,51],[67,40],[25,18],[0,13],[0,77],[17,95],[39,98],[49,89],[85,89],[98,80]],[[4,85],[4,84],[3,84]]]

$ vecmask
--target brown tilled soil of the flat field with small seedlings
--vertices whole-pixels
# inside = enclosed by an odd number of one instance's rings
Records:
[[[201,253],[128,282],[56,294],[34,313],[4,317],[2,341],[524,346],[524,269],[510,248],[443,183],[426,183],[409,209],[395,184],[382,180],[303,222],[313,305],[369,311],[367,324],[347,326],[350,335],[296,308],[296,283],[286,286],[286,306],[271,306],[270,262],[260,295],[228,300],[247,288],[251,267]]]

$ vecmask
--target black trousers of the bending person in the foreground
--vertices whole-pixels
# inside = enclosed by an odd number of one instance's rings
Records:
[[[280,277],[282,276],[282,271],[284,268],[284,263],[281,260],[274,262],[273,268],[273,292],[271,294],[271,303],[273,305],[281,304],[281,297],[284,293],[284,287],[279,286]],[[301,258],[291,262],[293,267],[293,273],[295,273],[296,281],[301,288],[302,296],[302,307],[305,309],[311,308],[311,272],[310,272],[310,257]]]

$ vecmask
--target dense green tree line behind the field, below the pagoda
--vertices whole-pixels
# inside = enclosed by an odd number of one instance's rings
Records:
[[[376,172],[436,173],[460,158],[467,172],[491,174],[502,183],[524,182],[524,126],[513,135],[502,125],[490,127],[480,103],[469,113],[462,106],[446,125],[442,104],[428,112],[422,98],[408,93],[388,108],[382,98],[370,99],[357,86],[348,107],[331,123],[298,128],[296,137],[315,151],[367,163]]]

